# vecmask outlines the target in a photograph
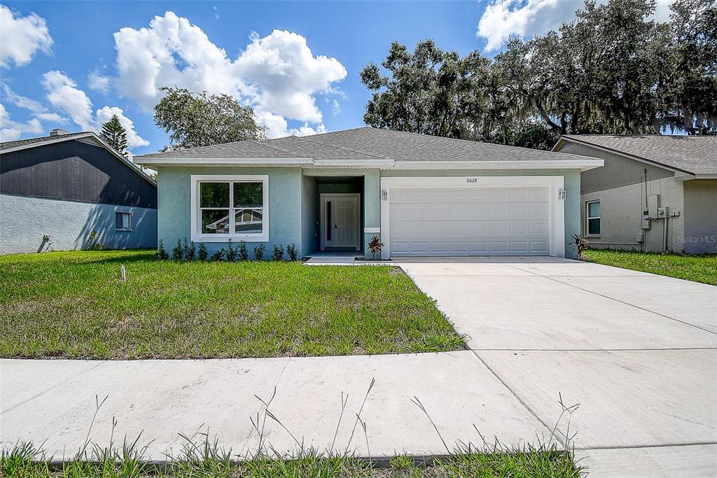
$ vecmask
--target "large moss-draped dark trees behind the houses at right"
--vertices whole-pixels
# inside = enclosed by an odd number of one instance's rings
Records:
[[[550,148],[569,133],[717,133],[717,6],[677,0],[586,1],[559,32],[511,38],[493,59],[414,52],[397,42],[361,71],[379,128]]]

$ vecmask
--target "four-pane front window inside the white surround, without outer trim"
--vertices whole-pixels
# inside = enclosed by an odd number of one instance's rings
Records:
[[[199,181],[199,234],[262,236],[265,181]]]

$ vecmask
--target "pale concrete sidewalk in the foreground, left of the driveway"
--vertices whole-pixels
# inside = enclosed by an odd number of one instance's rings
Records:
[[[456,353],[359,355],[323,358],[227,360],[1,360],[0,446],[17,441],[45,443],[56,458],[70,457],[85,441],[95,401],[107,396],[92,429],[106,446],[112,419],[115,442],[123,436],[148,454],[181,451],[179,433],[209,431],[222,446],[244,454],[257,449],[256,421],[276,387],[270,411],[305,446],[331,449],[346,400],[335,450],[362,456],[442,454],[444,439],[481,443],[478,430],[506,444],[521,444],[549,433],[543,424],[490,373],[470,350]],[[359,425],[349,444],[366,391],[375,378]],[[96,398],[98,397],[98,398]],[[554,398],[554,408],[559,410]],[[267,421],[265,440],[280,451],[295,451],[287,431]]]

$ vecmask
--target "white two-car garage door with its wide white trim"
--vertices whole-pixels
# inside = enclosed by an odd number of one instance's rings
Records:
[[[556,186],[562,181],[551,178],[382,178],[388,197],[381,202],[381,231],[384,239],[388,233],[388,254],[561,256],[564,223],[556,214]]]

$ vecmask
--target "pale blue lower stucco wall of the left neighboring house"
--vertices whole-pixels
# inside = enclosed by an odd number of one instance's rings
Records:
[[[132,213],[131,231],[115,229],[116,211]],[[92,231],[107,249],[157,245],[156,209],[1,194],[0,224],[0,254],[84,249]]]

